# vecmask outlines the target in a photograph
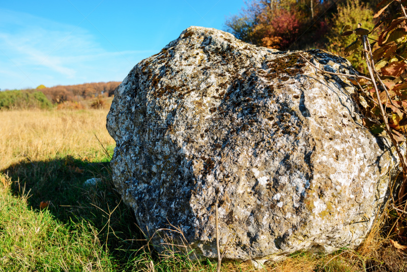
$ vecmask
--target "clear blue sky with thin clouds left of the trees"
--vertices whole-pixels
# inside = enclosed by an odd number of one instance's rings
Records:
[[[122,81],[190,25],[224,30],[243,0],[0,0],[0,89]]]

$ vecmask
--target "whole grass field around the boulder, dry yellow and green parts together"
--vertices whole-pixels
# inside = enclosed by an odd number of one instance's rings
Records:
[[[150,252],[111,181],[107,112],[0,111],[0,271],[216,271],[215,260]],[[379,231],[357,250],[293,254],[265,270],[403,271],[404,253]]]

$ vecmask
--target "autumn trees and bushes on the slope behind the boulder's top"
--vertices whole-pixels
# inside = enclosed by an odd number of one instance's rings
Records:
[[[279,50],[326,49],[344,57],[352,37],[340,37],[344,25],[361,22],[372,30],[374,10],[380,0],[251,0],[239,14],[226,18],[226,31],[257,46]],[[390,12],[395,10],[390,7]],[[379,31],[378,31],[379,32]],[[377,38],[374,33],[371,38]],[[362,56],[348,58],[367,72]]]

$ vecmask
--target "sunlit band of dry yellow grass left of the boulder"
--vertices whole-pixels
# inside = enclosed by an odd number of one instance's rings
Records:
[[[106,130],[108,110],[0,111],[0,170],[23,159],[59,154],[92,156],[90,150],[114,145]]]

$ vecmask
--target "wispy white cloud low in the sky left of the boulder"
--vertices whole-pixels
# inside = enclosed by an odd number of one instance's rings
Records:
[[[122,80],[159,50],[107,50],[95,35],[80,25],[0,9],[0,88]]]

